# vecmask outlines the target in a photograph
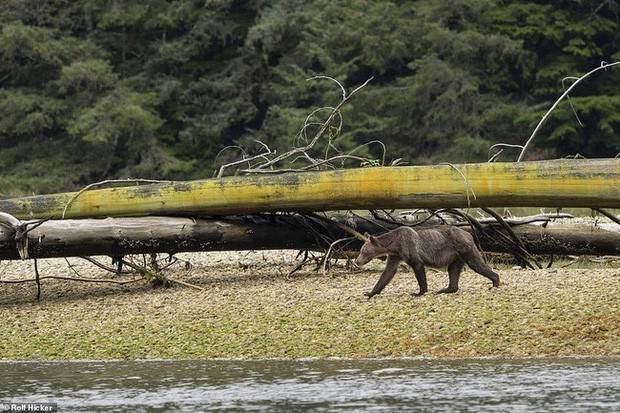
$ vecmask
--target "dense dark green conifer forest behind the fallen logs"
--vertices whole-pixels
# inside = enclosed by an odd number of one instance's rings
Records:
[[[317,151],[486,161],[523,145],[571,76],[620,59],[609,0],[0,3],[0,197],[208,178],[265,145],[286,152],[342,99],[318,75],[347,91],[371,80]],[[575,88],[526,159],[619,152],[615,67]]]

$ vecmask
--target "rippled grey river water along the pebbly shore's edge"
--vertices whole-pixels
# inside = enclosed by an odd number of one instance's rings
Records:
[[[25,403],[59,412],[619,412],[620,359],[0,362],[0,411]]]

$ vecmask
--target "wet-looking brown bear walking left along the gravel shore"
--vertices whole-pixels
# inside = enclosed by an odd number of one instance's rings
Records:
[[[379,281],[368,298],[380,294],[394,278],[398,265],[405,261],[415,273],[420,286],[420,296],[428,291],[425,265],[430,267],[448,267],[450,283],[438,293],[454,293],[459,289],[459,277],[463,266],[467,264],[478,274],[482,274],[499,286],[499,276],[487,265],[476,247],[473,237],[465,230],[451,226],[439,226],[428,229],[411,229],[399,227],[386,234],[373,237],[366,234],[364,243],[355,260],[357,265],[364,265],[375,257],[387,255],[387,264]]]

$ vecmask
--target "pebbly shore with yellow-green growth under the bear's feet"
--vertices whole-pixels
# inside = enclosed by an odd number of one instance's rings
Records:
[[[401,269],[368,300],[362,293],[376,282],[380,261],[328,275],[308,265],[288,277],[294,252],[185,258],[193,267],[168,275],[205,291],[45,280],[36,302],[34,285],[0,284],[0,359],[620,355],[620,269],[613,266],[500,268],[494,290],[467,270],[458,293],[421,298],[409,295],[417,285]],[[105,275],[70,262],[81,275]],[[30,277],[31,266],[2,262],[0,276]],[[42,261],[40,271],[74,275],[65,260]],[[445,284],[447,274],[429,271],[431,290]]]

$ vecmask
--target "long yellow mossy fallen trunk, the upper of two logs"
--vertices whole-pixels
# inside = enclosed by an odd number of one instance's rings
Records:
[[[476,206],[620,208],[620,160],[361,168],[0,200],[20,219]]]

